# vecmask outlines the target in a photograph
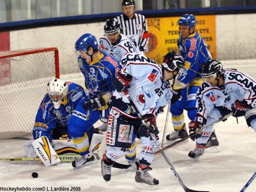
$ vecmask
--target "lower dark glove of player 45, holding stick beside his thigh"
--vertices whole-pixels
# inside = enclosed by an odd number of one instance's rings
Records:
[[[143,116],[143,119],[145,119],[145,122],[147,125],[145,125],[144,123],[140,125],[140,128],[138,130],[138,134],[140,137],[150,137],[149,133],[154,133],[154,134],[159,133],[157,128],[157,122],[154,115],[145,114]]]

